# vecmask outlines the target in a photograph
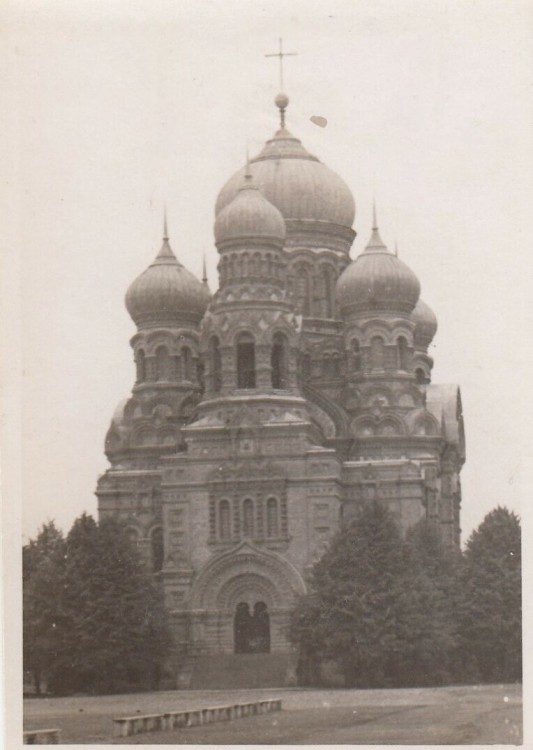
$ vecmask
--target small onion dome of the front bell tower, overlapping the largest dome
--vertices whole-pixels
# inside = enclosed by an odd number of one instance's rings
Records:
[[[278,209],[263,196],[247,170],[237,195],[216,217],[215,242],[218,246],[249,239],[283,245],[285,221]]]

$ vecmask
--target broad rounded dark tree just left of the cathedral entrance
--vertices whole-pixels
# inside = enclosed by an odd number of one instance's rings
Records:
[[[155,687],[170,638],[161,592],[114,518],[84,514],[66,539],[55,692]]]

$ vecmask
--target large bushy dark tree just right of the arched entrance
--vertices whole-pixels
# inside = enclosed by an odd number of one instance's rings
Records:
[[[314,566],[291,639],[304,661],[336,661],[347,685],[427,683],[451,638],[448,623],[433,619],[441,600],[393,516],[374,503],[343,525]]]

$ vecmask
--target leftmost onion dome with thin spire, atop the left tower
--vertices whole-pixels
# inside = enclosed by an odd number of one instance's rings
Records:
[[[126,308],[139,327],[199,323],[211,299],[207,284],[187,271],[172,252],[166,221],[164,235],[154,262],[126,292]]]

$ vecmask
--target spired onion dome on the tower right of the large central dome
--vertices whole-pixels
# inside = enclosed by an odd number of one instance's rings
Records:
[[[370,242],[337,281],[337,300],[343,316],[370,312],[410,314],[419,295],[416,275],[389,252],[381,239],[374,210]]]

